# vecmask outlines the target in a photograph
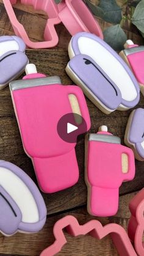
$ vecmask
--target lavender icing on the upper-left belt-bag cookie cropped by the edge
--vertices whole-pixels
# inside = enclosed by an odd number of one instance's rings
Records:
[[[13,40],[18,43],[19,49],[7,50],[7,53],[0,56],[0,85],[6,85],[12,79],[15,79],[16,76],[24,71],[27,63],[29,62],[26,54],[24,53],[26,45],[21,38],[5,35],[0,37],[0,44],[1,42],[9,42]]]

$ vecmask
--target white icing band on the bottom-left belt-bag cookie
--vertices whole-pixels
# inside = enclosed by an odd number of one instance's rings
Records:
[[[17,175],[9,169],[0,167],[0,185],[20,208],[23,222],[35,223],[39,221],[35,199],[29,188]]]

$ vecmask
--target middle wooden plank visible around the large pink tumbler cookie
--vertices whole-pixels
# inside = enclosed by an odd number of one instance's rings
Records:
[[[65,73],[65,67],[68,62],[67,51],[63,50],[28,50],[27,55],[30,62],[34,62],[39,72],[52,75],[59,75],[63,84],[72,84]],[[144,98],[141,98],[139,106],[143,106]],[[90,132],[95,133],[101,125],[107,125],[109,131],[120,136],[123,142],[124,130],[131,111],[120,112],[115,111],[110,115],[105,115],[97,109],[89,100],[87,100],[90,117],[92,120],[92,128]],[[138,107],[138,106],[137,106]],[[9,87],[0,93],[0,155],[1,159],[15,163],[20,166],[33,180],[36,182],[34,169],[23,150],[20,132],[16,123],[13,111],[12,101],[10,99]],[[79,163],[80,179],[76,186],[59,193],[47,195],[43,194],[48,214],[56,213],[85,205],[87,201],[87,188],[84,182],[84,136],[80,136],[76,146],[77,160]],[[120,194],[126,194],[143,187],[144,163],[136,161],[137,175],[134,181],[124,183],[121,186]]]

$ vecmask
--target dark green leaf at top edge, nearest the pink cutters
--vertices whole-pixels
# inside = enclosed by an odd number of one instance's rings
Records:
[[[85,0],[85,2],[87,2],[88,7],[92,10],[94,15],[113,24],[120,23],[122,18],[122,9],[117,5],[115,0],[100,0],[98,6],[93,5],[90,0]]]

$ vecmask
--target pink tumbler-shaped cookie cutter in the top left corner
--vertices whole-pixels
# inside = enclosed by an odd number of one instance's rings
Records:
[[[7,11],[7,15],[9,16],[10,23],[12,24],[13,30],[16,35],[23,38],[24,42],[29,48],[50,48],[56,46],[59,42],[59,38],[57,32],[54,28],[54,25],[59,24],[61,21],[59,16],[57,15],[58,10],[55,9],[54,3],[52,0],[46,0],[47,4],[43,5],[43,1],[34,1],[33,0],[21,0],[22,4],[31,4],[34,6],[34,9],[45,10],[46,13],[51,13],[49,19],[46,23],[44,37],[45,41],[43,42],[32,42],[24,26],[17,20],[15,12],[13,10],[12,5],[16,4],[17,0],[3,0],[5,10]]]

